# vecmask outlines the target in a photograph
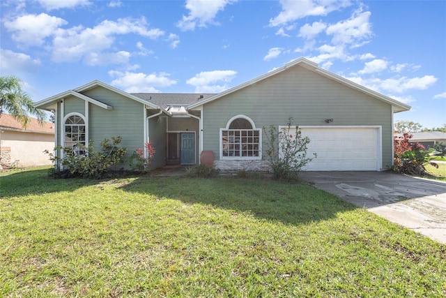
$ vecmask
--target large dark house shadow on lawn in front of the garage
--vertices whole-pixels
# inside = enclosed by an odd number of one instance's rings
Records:
[[[323,221],[339,212],[355,209],[352,204],[304,182],[236,177],[140,177],[120,188],[155,196],[157,200],[203,204],[291,225]]]

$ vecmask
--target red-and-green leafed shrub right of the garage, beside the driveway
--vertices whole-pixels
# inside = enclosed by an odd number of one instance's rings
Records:
[[[392,170],[402,174],[426,175],[425,164],[438,168],[438,164],[429,161],[429,152],[420,143],[410,142],[412,135],[403,133],[394,136],[394,165]]]

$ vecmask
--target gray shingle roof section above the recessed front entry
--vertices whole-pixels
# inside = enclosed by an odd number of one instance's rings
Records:
[[[206,99],[215,94],[192,94],[192,93],[132,93],[149,103],[159,105],[164,109],[171,105],[190,105],[197,103],[199,100]]]

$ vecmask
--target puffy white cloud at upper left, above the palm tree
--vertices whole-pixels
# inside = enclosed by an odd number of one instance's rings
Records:
[[[24,45],[43,45],[45,38],[53,36],[66,20],[46,13],[40,15],[22,15],[15,20],[4,22],[6,29],[13,32],[12,38]]]

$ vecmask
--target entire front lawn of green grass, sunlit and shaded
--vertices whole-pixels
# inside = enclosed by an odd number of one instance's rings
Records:
[[[0,197],[0,297],[446,295],[444,245],[308,184],[33,169]]]

